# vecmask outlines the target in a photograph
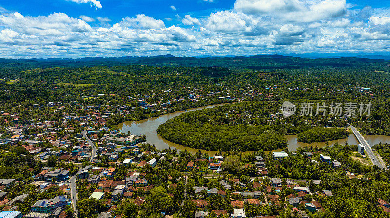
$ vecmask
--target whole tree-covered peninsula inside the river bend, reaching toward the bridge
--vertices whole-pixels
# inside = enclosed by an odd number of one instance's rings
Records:
[[[162,124],[157,132],[163,138],[187,147],[228,151],[274,150],[287,145],[283,135],[298,134],[298,141],[324,142],[346,138],[348,132],[340,128],[313,128],[340,126],[345,122],[328,117],[318,118],[293,115],[278,117],[281,102],[251,101],[224,105],[211,109],[187,112]],[[270,120],[270,114],[273,119]],[[306,121],[305,121],[306,120]]]

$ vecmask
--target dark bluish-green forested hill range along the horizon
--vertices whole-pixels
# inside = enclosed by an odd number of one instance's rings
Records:
[[[250,57],[97,57],[80,59],[0,59],[0,71],[15,73],[36,68],[91,67],[120,65],[186,66],[186,67],[238,67],[245,69],[300,69],[305,67],[385,67],[388,60],[368,58],[299,58],[281,55],[256,55]],[[378,69],[379,70],[379,69]],[[3,76],[3,75],[0,75]]]

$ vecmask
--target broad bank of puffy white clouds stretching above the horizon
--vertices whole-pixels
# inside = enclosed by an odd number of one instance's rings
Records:
[[[243,4],[260,1],[268,5],[250,9]],[[107,17],[94,17],[97,22],[90,26],[94,18],[85,15],[32,17],[3,12],[0,53],[1,57],[75,58],[390,51],[390,30],[384,26],[390,25],[390,9],[350,9],[342,0],[237,2],[240,7],[208,17],[167,17],[163,20],[174,24],[169,27],[143,14],[112,25]]]

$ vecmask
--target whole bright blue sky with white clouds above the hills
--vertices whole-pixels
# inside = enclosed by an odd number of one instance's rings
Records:
[[[389,51],[390,1],[0,1],[3,58]]]

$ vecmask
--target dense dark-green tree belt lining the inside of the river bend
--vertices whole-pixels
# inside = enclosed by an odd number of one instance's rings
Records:
[[[197,125],[173,119],[158,127],[157,133],[177,144],[203,150],[259,151],[287,146],[277,131],[245,125]]]

